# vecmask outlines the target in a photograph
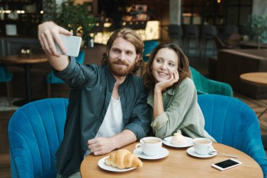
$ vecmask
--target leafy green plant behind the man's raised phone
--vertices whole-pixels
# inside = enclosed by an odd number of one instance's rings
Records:
[[[93,39],[90,31],[96,26],[96,22],[86,3],[74,5],[73,0],[63,1],[56,12],[56,23],[82,37],[85,43]]]

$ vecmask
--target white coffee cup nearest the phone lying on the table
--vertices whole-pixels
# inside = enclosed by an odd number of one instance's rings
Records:
[[[209,152],[213,151],[214,148],[211,146],[211,139],[207,138],[195,138],[193,139],[193,146],[195,152],[199,155],[207,155]]]

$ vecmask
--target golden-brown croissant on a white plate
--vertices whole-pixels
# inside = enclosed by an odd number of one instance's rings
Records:
[[[105,159],[106,165],[112,165],[119,169],[129,168],[129,167],[142,167],[142,161],[137,157],[137,155],[131,153],[128,150],[118,150],[110,154],[109,158]]]

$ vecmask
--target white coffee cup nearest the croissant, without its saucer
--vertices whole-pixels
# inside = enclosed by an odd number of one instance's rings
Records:
[[[162,139],[148,136],[140,140],[140,144],[136,144],[136,150],[142,151],[145,155],[157,155],[162,148]]]

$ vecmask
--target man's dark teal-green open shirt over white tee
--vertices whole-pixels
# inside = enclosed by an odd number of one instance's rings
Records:
[[[87,141],[95,138],[108,110],[116,80],[108,65],[80,65],[74,58],[56,75],[71,89],[65,133],[56,153],[57,172],[67,177],[79,170]],[[140,77],[127,75],[119,85],[124,129],[131,130],[137,139],[143,138],[150,127],[146,98]]]

